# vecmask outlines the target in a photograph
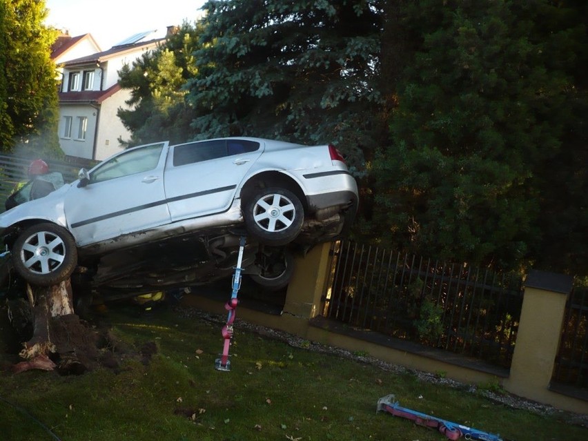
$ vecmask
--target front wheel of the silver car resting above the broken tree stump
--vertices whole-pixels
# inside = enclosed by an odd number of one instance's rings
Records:
[[[48,222],[26,228],[12,246],[14,270],[37,286],[51,286],[68,279],[77,266],[72,235]]]

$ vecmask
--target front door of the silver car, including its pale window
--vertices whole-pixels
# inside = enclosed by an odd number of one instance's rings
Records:
[[[65,213],[79,246],[168,224],[164,192],[167,142],[126,150],[90,170],[66,194]]]

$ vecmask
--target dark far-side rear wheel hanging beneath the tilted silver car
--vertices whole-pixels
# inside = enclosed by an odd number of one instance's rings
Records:
[[[294,275],[294,256],[285,249],[264,250],[258,257],[256,265],[259,274],[251,274],[251,280],[268,291],[286,288]]]

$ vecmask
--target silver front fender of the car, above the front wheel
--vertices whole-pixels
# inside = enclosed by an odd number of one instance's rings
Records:
[[[66,215],[63,211],[64,196],[71,186],[76,184],[77,181],[65,184],[45,197],[25,202],[1,213],[0,232],[3,233],[14,224],[28,219],[42,219],[67,227]]]

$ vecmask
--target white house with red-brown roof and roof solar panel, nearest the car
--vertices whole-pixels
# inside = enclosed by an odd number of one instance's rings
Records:
[[[66,155],[105,159],[122,150],[118,139],[128,139],[130,133],[117,117],[117,110],[128,108],[125,101],[130,91],[118,85],[118,71],[165,41],[144,41],[149,35],[151,32],[143,32],[104,52],[63,63],[59,144]]]

